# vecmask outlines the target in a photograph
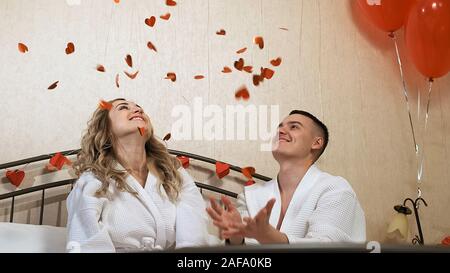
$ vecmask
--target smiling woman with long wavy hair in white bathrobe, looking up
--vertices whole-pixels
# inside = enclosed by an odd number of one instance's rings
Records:
[[[142,108],[102,102],[74,163],[68,251],[115,252],[207,244],[205,203],[153,134]]]

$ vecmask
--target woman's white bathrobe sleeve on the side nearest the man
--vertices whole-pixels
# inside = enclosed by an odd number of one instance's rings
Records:
[[[177,203],[176,248],[206,246],[209,233],[205,201],[186,170],[178,171],[183,185]]]

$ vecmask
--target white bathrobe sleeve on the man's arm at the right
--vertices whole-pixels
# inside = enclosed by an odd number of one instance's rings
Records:
[[[362,212],[358,200],[352,191],[329,191],[319,199],[316,209],[309,217],[309,228],[305,237],[298,237],[294,232],[288,232],[286,235],[291,244],[352,242],[355,241],[355,230],[361,227],[365,230],[365,221],[356,223],[355,226],[355,219],[363,219],[360,213]],[[362,241],[364,240],[365,238],[362,238]]]

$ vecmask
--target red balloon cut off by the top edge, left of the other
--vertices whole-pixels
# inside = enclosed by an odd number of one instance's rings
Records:
[[[416,0],[357,0],[362,12],[379,29],[394,32],[405,24]]]

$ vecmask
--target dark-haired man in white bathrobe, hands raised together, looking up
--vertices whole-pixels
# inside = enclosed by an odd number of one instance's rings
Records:
[[[364,242],[364,212],[349,183],[314,164],[328,144],[328,129],[294,110],[278,126],[273,157],[277,178],[245,187],[237,208],[222,197],[207,212],[230,244]],[[241,216],[242,215],[242,216]]]

